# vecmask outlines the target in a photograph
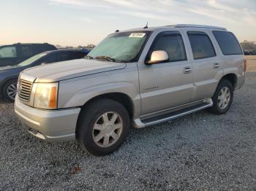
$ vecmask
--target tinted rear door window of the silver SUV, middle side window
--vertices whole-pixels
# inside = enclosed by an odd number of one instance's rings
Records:
[[[203,32],[188,32],[194,59],[211,58],[216,56],[211,39]]]

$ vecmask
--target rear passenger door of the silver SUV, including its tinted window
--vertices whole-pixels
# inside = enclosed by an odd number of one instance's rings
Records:
[[[222,59],[209,31],[185,30],[192,51],[193,95],[192,101],[211,98],[223,75]]]

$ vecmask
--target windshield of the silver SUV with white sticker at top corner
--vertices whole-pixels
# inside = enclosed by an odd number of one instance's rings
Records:
[[[148,31],[110,34],[88,54],[90,58],[112,58],[113,61],[132,61],[143,47]]]

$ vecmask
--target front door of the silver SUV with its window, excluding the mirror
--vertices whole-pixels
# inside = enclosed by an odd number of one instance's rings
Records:
[[[169,61],[150,66],[145,61],[138,64],[142,115],[187,104],[192,99],[192,64],[184,36],[179,31],[161,32],[151,44],[146,60],[155,50],[165,50]]]

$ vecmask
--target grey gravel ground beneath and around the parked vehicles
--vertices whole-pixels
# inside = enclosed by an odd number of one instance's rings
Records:
[[[0,190],[256,190],[256,70],[224,115],[133,129],[112,155],[48,143],[0,103]]]

